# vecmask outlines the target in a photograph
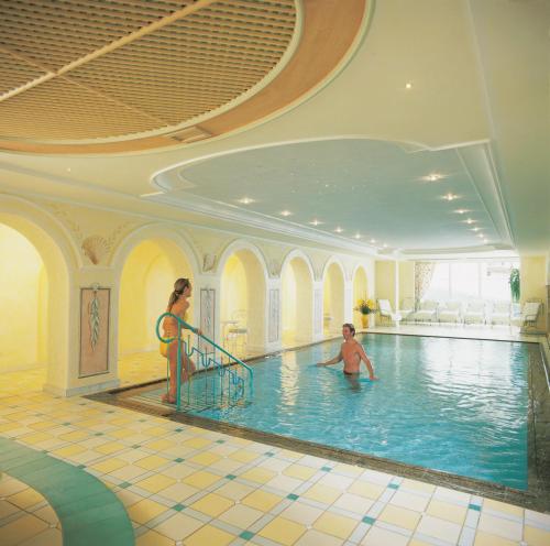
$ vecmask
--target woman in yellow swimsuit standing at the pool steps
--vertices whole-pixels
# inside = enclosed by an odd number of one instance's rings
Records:
[[[191,296],[193,286],[188,279],[178,279],[174,283],[174,292],[168,299],[166,313],[172,313],[185,320],[185,314],[189,308],[188,298]],[[177,337],[178,321],[174,317],[165,317],[163,321],[164,338],[176,338],[170,343],[161,343],[161,353],[168,358],[170,367],[169,389],[168,394],[163,395],[163,402],[169,404],[176,403],[176,382],[177,382]],[[191,328],[195,334],[202,334],[199,328]],[[187,357],[182,343],[182,382],[189,380],[189,376],[195,372],[195,364]]]

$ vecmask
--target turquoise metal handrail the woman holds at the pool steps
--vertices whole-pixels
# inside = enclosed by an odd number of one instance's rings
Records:
[[[178,325],[177,331],[178,335],[177,337],[170,337],[170,338],[164,338],[161,335],[160,327],[162,321],[166,318],[170,317],[174,318]],[[212,352],[210,351],[202,351],[198,349],[197,347],[191,347],[190,346],[190,336],[187,337],[187,341],[182,339],[182,330],[190,330],[194,334],[197,335],[197,337],[204,342],[210,345],[215,350],[213,352],[213,358],[210,356]],[[187,361],[195,354],[197,358],[197,365],[200,365],[205,371],[207,370],[216,370],[218,373],[218,376],[220,379],[220,389],[219,392],[217,392],[217,384],[216,382],[212,382],[211,385],[211,397],[212,402],[215,403],[217,398],[219,398],[220,405],[223,403],[234,403],[238,401],[241,401],[244,397],[245,394],[245,387],[246,387],[246,382],[245,380],[239,375],[239,373],[235,373],[231,368],[237,365],[239,369],[243,371],[243,373],[248,374],[248,383],[249,383],[249,395],[252,396],[253,393],[253,374],[254,372],[252,371],[252,368],[246,365],[242,360],[238,359],[230,352],[228,352],[223,347],[220,347],[216,341],[212,339],[208,338],[207,336],[199,334],[196,328],[194,328],[191,325],[183,320],[180,317],[177,315],[174,315],[173,313],[163,313],[157,321],[156,321],[156,336],[161,340],[161,342],[169,345],[170,342],[175,341],[177,339],[177,368],[176,368],[176,407],[179,411],[182,406],[182,347],[184,349],[185,356],[187,357]],[[220,362],[216,359],[216,351],[220,351],[222,354],[228,357],[229,361],[223,364],[223,362]],[[168,374],[168,384],[169,384],[169,358],[167,358],[167,374]],[[224,379],[227,376],[227,387],[224,389]],[[208,385],[205,380],[205,385]],[[226,392],[227,391],[227,392]],[[233,391],[233,392],[232,392]],[[205,406],[208,405],[208,389],[205,387],[204,396],[205,396]],[[190,380],[189,380],[189,370],[188,370],[188,381],[187,381],[187,403],[190,404],[191,400],[191,386],[190,386]]]

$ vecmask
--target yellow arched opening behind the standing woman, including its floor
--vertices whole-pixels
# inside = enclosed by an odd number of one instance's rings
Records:
[[[193,284],[189,261],[174,241],[146,239],[128,254],[119,297],[119,378],[122,385],[166,375],[166,360],[160,354],[155,327],[166,310],[178,277],[190,279]],[[189,302],[187,318],[194,324],[193,296]]]

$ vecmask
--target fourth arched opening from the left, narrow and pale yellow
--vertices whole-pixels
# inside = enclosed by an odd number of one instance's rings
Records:
[[[280,275],[283,345],[307,343],[314,335],[314,283],[302,258],[288,260]]]

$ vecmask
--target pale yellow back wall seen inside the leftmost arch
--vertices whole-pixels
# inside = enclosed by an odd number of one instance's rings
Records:
[[[0,225],[0,372],[45,363],[47,276],[36,249]]]

